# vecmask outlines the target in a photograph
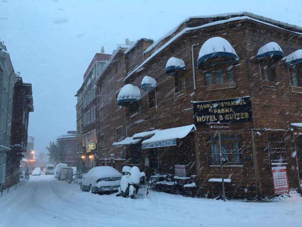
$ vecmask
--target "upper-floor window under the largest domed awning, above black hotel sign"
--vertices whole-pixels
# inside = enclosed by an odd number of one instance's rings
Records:
[[[233,82],[232,60],[208,60],[203,64],[205,85]]]

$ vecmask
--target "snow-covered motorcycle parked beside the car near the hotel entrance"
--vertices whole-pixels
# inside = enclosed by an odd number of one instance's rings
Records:
[[[124,166],[122,172],[124,176],[120,179],[120,187],[118,188],[119,194],[117,194],[117,196],[134,199],[140,188],[140,179],[143,176],[146,176],[146,174],[140,172],[140,169],[137,166],[133,166],[132,168]]]

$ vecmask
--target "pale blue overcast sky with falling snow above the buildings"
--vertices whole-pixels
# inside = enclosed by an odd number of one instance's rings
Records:
[[[76,130],[76,94],[101,46],[160,38],[189,16],[247,11],[302,26],[302,1],[0,0],[0,39],[15,71],[31,82],[28,135],[36,153]]]

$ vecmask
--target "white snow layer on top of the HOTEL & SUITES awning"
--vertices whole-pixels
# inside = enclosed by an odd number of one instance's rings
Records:
[[[187,136],[191,131],[194,131],[194,130],[196,130],[196,127],[194,124],[182,126],[182,127],[158,130],[158,131],[156,131],[156,133],[153,137],[151,137],[150,139],[144,140],[142,142],[142,144],[154,143],[154,142],[165,141],[165,140],[181,139],[181,138],[184,138],[185,136]]]

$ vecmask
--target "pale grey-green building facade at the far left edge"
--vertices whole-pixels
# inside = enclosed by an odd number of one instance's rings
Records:
[[[16,74],[11,63],[10,55],[7,52],[3,41],[0,41],[0,84],[1,84],[1,112],[0,112],[0,186],[6,179],[6,162],[11,152],[11,119],[13,108],[14,84]]]

